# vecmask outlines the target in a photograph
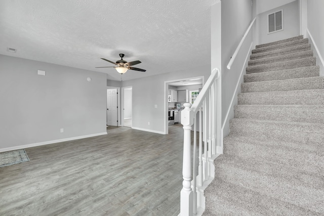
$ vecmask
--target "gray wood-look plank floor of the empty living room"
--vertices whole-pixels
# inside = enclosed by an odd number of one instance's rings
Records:
[[[182,127],[107,132],[27,148],[29,162],[0,168],[0,215],[178,215]]]

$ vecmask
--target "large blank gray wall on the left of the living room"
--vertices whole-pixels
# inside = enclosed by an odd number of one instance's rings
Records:
[[[106,132],[106,74],[0,55],[0,75],[0,149]]]

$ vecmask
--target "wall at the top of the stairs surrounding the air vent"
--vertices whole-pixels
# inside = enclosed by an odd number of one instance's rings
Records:
[[[257,2],[257,6],[259,2]],[[268,14],[282,11],[284,20],[284,29],[277,32],[268,33]],[[266,44],[276,40],[286,39],[289,37],[298,36],[300,34],[300,19],[299,19],[299,4],[298,1],[291,2],[287,5],[271,9],[258,15],[258,42]]]

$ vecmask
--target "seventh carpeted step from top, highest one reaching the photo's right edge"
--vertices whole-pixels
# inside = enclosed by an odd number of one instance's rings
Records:
[[[241,92],[280,92],[309,89],[323,89],[323,77],[305,77],[298,79],[270,80],[241,83]]]

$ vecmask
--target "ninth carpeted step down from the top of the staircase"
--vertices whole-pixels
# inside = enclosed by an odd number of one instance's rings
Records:
[[[324,106],[237,105],[234,118],[324,123]]]

